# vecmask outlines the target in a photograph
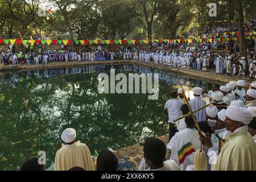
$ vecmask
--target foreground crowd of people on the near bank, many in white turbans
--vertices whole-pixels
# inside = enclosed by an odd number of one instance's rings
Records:
[[[166,145],[160,139],[146,139],[139,171],[256,170],[256,82],[247,90],[245,86],[245,81],[238,80],[222,86],[214,84],[209,92],[195,87],[194,98],[188,102],[185,90],[172,90],[171,99],[164,106],[164,113],[168,114],[169,142]],[[205,97],[210,102],[207,107],[204,107]],[[193,116],[187,115],[190,109],[199,111]],[[179,119],[184,115],[187,116]],[[71,128],[61,134],[65,144],[56,152],[56,171],[118,170],[114,152],[101,151],[94,166],[89,148],[76,137],[76,130]],[[167,148],[170,158],[166,158]],[[202,159],[196,158],[200,150],[209,159],[204,161],[204,168],[198,164]],[[214,159],[212,152],[216,154]],[[33,158],[21,169],[45,170],[45,166]]]

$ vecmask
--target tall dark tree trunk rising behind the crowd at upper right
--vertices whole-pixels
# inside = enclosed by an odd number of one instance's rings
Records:
[[[237,13],[238,13],[238,35],[239,35],[240,56],[247,57],[245,31],[243,30],[242,0],[237,0]]]

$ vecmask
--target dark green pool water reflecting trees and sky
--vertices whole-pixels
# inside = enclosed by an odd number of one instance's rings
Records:
[[[159,98],[147,94],[98,94],[98,73],[159,73]],[[0,76],[0,169],[16,170],[40,150],[47,167],[61,147],[67,127],[90,151],[114,150],[167,133],[163,114],[170,91],[179,82],[191,89],[211,84],[185,76],[138,67],[101,65],[5,73]]]

